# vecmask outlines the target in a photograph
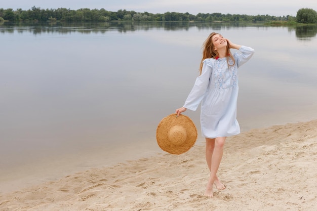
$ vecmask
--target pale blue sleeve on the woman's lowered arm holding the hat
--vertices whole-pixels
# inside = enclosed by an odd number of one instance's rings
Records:
[[[194,86],[185,101],[183,106],[184,108],[192,111],[195,111],[198,108],[209,86],[211,72],[212,68],[211,66],[207,65],[205,60],[203,63],[202,74],[196,78]]]

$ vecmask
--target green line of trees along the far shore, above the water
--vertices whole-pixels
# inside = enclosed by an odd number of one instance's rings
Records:
[[[88,22],[88,21],[223,21],[223,22],[294,22],[294,23],[317,23],[317,12],[302,8],[298,10],[296,17],[269,16],[269,15],[231,15],[221,13],[199,13],[192,15],[189,13],[166,12],[164,14],[152,14],[148,12],[135,12],[118,10],[116,12],[105,9],[78,9],[70,10],[66,8],[41,9],[33,6],[29,10],[22,9],[0,9],[0,21],[68,21],[68,22]]]

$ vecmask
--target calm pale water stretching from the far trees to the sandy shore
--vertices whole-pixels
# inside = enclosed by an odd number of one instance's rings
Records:
[[[161,152],[156,126],[183,105],[213,31],[256,51],[239,69],[242,131],[317,118],[316,27],[3,24],[0,189]],[[200,131],[200,111],[184,114]]]

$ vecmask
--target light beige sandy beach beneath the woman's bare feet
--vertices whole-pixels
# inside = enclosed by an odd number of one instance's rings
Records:
[[[218,177],[204,196],[205,146],[164,151],[0,194],[0,210],[317,210],[317,120],[229,137]]]

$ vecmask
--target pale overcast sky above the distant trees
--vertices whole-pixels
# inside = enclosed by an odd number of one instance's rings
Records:
[[[29,10],[33,6],[41,9],[82,8],[105,9],[116,12],[120,9],[135,12],[160,13],[222,13],[239,15],[296,16],[301,8],[317,11],[316,0],[3,0],[0,8]]]

